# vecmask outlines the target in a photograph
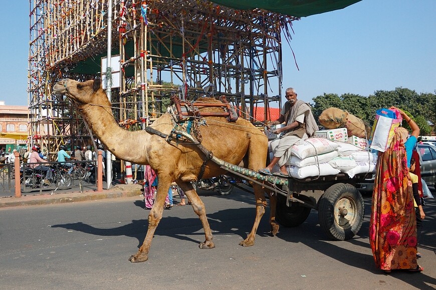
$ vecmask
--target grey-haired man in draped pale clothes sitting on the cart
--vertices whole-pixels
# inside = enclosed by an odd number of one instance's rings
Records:
[[[318,130],[310,105],[302,100],[297,100],[297,93],[293,88],[286,89],[286,99],[288,101],[283,105],[280,117],[275,121],[268,122],[268,126],[278,125],[283,122],[286,125],[274,130],[275,134],[281,132],[284,132],[284,134],[279,138],[277,147],[273,149],[274,158],[271,163],[266,168],[259,170],[262,174],[271,175],[274,166],[279,164],[280,171],[273,175],[288,177],[285,166],[290,157],[288,150],[297,141],[313,136],[315,131]]]

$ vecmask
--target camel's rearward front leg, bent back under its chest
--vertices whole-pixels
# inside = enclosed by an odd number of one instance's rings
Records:
[[[204,242],[201,242],[198,247],[200,249],[214,248],[215,244],[212,241],[212,231],[210,230],[209,222],[207,221],[206,209],[204,208],[203,202],[198,197],[190,182],[177,181],[177,185],[180,186],[180,188],[184,191],[185,195],[192,204],[194,212],[200,218],[201,224],[203,225],[204,236],[206,239]]]

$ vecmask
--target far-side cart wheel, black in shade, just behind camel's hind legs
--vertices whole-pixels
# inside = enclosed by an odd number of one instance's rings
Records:
[[[298,202],[290,202],[286,206],[286,197],[278,196],[276,206],[276,219],[285,227],[296,227],[304,223],[310,214],[310,207],[305,207]]]

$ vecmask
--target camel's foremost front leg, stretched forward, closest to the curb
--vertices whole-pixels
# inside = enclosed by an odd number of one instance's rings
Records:
[[[144,262],[148,260],[148,251],[150,250],[154,231],[162,219],[163,206],[165,204],[166,195],[168,194],[171,182],[164,180],[164,178],[162,178],[160,175],[158,176],[158,179],[159,185],[157,186],[156,197],[153,206],[151,207],[150,214],[148,215],[147,234],[145,235],[144,242],[142,243],[142,246],[139,248],[138,252],[130,256],[129,261],[132,263]]]

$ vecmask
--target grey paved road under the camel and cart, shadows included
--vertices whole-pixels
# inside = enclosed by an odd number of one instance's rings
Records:
[[[204,235],[190,206],[164,211],[149,260],[130,263],[147,229],[140,197],[0,209],[0,288],[3,289],[431,289],[436,286],[436,201],[419,251],[422,273],[382,274],[365,223],[349,241],[325,239],[317,213],[296,228],[269,235],[262,220],[256,243],[242,247],[254,219],[254,198],[203,192],[216,247],[198,248]],[[176,199],[177,201],[177,199]],[[269,212],[267,211],[267,214]]]

